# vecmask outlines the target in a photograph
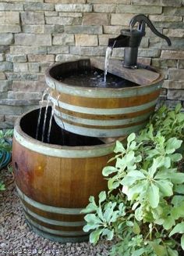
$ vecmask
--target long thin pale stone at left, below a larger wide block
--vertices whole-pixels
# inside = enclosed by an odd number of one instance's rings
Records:
[[[46,46],[10,46],[10,53],[11,54],[44,54],[47,53],[47,47]]]

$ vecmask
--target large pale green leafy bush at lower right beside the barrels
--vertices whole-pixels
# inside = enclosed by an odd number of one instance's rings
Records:
[[[181,106],[157,110],[126,146],[117,141],[112,165],[102,173],[108,192],[90,197],[87,225],[90,242],[115,238],[114,256],[177,256],[184,251],[184,172],[179,171],[184,114]],[[171,121],[172,120],[172,121]],[[167,132],[165,132],[167,131]],[[182,133],[182,134],[181,134]]]

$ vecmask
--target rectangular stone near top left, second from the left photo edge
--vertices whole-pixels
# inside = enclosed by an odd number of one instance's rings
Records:
[[[44,12],[21,13],[22,24],[44,24]]]

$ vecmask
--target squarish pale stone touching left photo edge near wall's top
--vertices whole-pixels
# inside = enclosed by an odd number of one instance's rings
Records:
[[[19,24],[18,12],[0,12],[1,24]]]

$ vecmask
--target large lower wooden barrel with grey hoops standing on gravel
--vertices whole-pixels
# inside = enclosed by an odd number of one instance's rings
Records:
[[[69,132],[64,134],[65,143],[74,146],[41,142],[34,139],[38,113],[32,110],[19,117],[14,130],[12,165],[23,211],[31,227],[50,240],[87,240],[81,210],[91,195],[97,198],[107,188],[101,170],[111,158],[114,143],[103,144],[97,138],[89,140]],[[57,133],[63,136],[53,123],[55,143]],[[75,136],[77,143],[90,146],[75,146]]]

